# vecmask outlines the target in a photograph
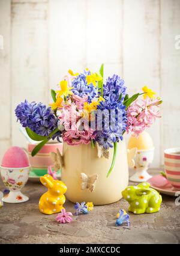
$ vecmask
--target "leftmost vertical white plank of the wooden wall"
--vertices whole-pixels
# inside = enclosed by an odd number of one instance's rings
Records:
[[[0,157],[11,145],[11,1],[0,1],[0,34],[4,49],[0,50]]]

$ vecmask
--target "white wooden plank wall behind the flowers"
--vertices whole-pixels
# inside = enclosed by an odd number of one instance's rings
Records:
[[[180,0],[0,0],[0,35],[0,159],[10,145],[26,147],[19,102],[49,103],[68,69],[102,62],[130,94],[146,84],[164,100],[163,118],[149,129],[154,167],[164,148],[180,147]]]

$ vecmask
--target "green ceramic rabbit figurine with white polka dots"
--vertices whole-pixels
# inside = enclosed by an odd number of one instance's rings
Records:
[[[148,182],[143,182],[137,186],[128,186],[122,191],[122,197],[130,204],[129,212],[140,214],[154,213],[160,210],[162,197],[149,186]]]

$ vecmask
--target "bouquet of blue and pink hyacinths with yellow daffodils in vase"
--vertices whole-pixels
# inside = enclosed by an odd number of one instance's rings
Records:
[[[160,117],[158,106],[162,100],[148,87],[142,93],[128,96],[124,80],[113,75],[104,81],[103,64],[99,72],[85,69],[82,73],[71,70],[59,83],[58,89],[51,90],[53,103],[49,107],[42,103],[20,103],[16,110],[17,120],[25,127],[28,136],[40,143],[32,156],[50,139],[62,138],[72,147],[91,144],[98,147],[102,156],[113,157],[107,177],[116,160],[118,142],[125,132],[138,136],[146,127]],[[143,96],[143,99],[137,99]]]

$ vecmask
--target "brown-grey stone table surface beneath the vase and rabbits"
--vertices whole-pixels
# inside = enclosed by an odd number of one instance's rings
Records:
[[[159,170],[151,170],[154,175]],[[134,183],[135,184],[135,183]],[[4,190],[0,182],[0,190]],[[46,188],[28,181],[23,192],[29,201],[4,204],[0,209],[0,243],[179,243],[180,206],[175,197],[162,195],[160,212],[134,215],[130,213],[130,228],[116,227],[119,209],[128,208],[122,199],[107,206],[96,206],[88,215],[73,216],[71,224],[58,224],[55,215],[43,215],[38,200]],[[65,209],[74,212],[67,201]]]

